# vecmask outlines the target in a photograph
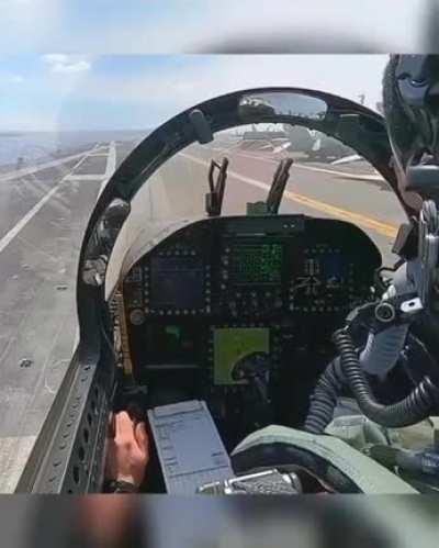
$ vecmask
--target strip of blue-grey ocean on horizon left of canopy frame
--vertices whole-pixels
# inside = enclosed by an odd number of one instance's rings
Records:
[[[0,132],[0,166],[35,161],[69,154],[97,142],[140,141],[150,130],[89,132]]]

